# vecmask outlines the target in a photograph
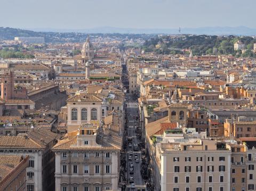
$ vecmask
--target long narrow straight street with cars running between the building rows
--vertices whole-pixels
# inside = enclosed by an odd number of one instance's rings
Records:
[[[126,142],[127,188],[129,189],[131,187],[129,180],[132,177],[134,180],[136,190],[143,190],[143,189],[145,190],[145,183],[141,176],[140,147],[138,146],[138,151],[136,151],[136,148],[134,147],[134,144],[140,145],[140,139],[137,137],[137,132],[136,132],[136,127],[139,125],[136,119],[138,115],[138,106],[137,106],[137,102],[135,102],[132,99],[132,94],[126,94],[126,103],[127,103],[126,115],[128,119],[126,139],[130,139],[130,142],[129,141]],[[138,157],[136,157],[136,155]],[[135,161],[136,159],[138,160]]]

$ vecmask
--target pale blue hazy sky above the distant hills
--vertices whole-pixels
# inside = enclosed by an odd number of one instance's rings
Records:
[[[0,26],[15,28],[256,28],[256,0],[0,0],[0,7]]]

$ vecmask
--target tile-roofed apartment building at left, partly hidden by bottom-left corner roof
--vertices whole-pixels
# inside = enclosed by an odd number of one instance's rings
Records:
[[[0,156],[29,156],[25,176],[27,191],[54,189],[55,156],[51,148],[59,138],[44,128],[34,128],[19,136],[1,136]]]

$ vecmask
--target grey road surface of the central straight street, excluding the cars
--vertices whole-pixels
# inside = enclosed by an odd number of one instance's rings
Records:
[[[130,99],[127,99],[129,98]],[[135,187],[138,189],[145,189],[145,184],[144,181],[141,177],[141,173],[140,173],[140,169],[141,169],[141,152],[140,150],[137,152],[133,151],[133,144],[139,144],[140,141],[138,140],[137,136],[136,136],[136,132],[135,132],[135,128],[134,128],[134,119],[133,115],[137,116],[138,114],[138,106],[137,103],[135,101],[132,100],[131,98],[131,94],[126,94],[126,103],[127,103],[127,107],[126,107],[126,114],[127,114],[127,119],[128,119],[128,128],[127,128],[127,136],[128,137],[133,137],[132,139],[132,147],[129,147],[128,145],[126,146],[126,169],[127,169],[127,180],[128,180],[128,185],[127,187],[130,187],[131,184],[129,183],[129,178],[133,177],[134,179],[134,184]],[[130,115],[131,114],[131,115]],[[132,157],[132,161],[129,161],[129,152],[133,151],[133,157]],[[137,153],[138,154],[138,159],[139,159],[139,163],[135,163],[135,159],[134,159],[134,154]],[[133,163],[134,165],[134,173],[132,175],[130,175],[130,162]]]

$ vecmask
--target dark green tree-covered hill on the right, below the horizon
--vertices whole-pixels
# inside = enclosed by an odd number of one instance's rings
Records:
[[[234,43],[241,40],[247,51],[234,50]],[[169,48],[191,49],[193,55],[220,55],[231,54],[236,56],[253,57],[252,49],[256,39],[252,37],[237,36],[208,36],[208,35],[183,35],[179,37],[158,36],[146,40],[143,49],[146,52],[157,52],[159,54],[176,54],[179,51],[173,51]],[[159,48],[156,48],[158,45]],[[255,56],[256,57],[256,56]]]

